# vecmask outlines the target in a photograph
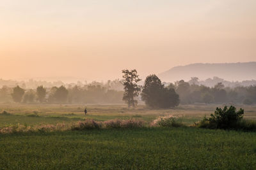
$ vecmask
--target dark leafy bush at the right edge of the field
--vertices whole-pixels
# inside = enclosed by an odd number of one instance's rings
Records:
[[[244,110],[242,108],[236,111],[236,107],[225,106],[223,109],[216,108],[210,118],[204,117],[202,121],[196,124],[197,127],[209,129],[242,129],[252,131],[256,129],[256,122],[243,120]]]

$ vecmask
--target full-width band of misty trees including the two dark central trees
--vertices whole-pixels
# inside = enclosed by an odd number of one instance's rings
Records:
[[[118,104],[127,103],[135,107],[138,102],[144,102],[150,108],[171,108],[179,104],[255,104],[256,86],[225,87],[223,83],[216,83],[214,87],[207,87],[198,83],[198,78],[191,78],[174,83],[163,83],[156,74],[150,74],[144,85],[136,69],[122,71],[123,80],[108,81],[108,83],[93,82],[90,85],[74,85],[65,87],[46,88],[42,85],[36,89],[17,87],[2,87],[0,102],[16,103],[76,103],[76,104]],[[113,90],[118,87],[124,90]]]

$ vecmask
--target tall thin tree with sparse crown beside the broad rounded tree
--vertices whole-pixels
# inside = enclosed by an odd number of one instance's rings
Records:
[[[138,101],[134,99],[134,97],[139,96],[139,92],[141,89],[137,83],[138,81],[141,81],[141,79],[139,78],[136,69],[132,69],[131,71],[129,71],[128,69],[124,69],[122,73],[124,73],[123,101],[128,104],[128,107],[135,107],[138,104]]]

